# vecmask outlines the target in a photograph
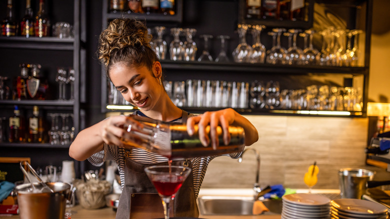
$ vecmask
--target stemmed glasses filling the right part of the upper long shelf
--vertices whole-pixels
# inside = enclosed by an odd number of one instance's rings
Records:
[[[253,44],[246,43],[246,33],[251,28]],[[307,29],[273,28],[268,32],[272,36],[269,50],[260,42],[260,32],[265,26],[238,24],[239,44],[233,51],[235,62],[294,64],[294,65],[331,65],[358,66],[358,35],[362,30],[335,29],[330,26],[322,31]],[[313,34],[322,37],[322,48],[313,46]],[[288,37],[288,47],[281,45],[280,36]],[[297,36],[303,37],[303,48],[297,46]]]

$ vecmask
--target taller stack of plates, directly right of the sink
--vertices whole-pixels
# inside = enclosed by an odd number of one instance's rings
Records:
[[[282,196],[281,219],[328,219],[330,199],[317,194],[287,194]]]

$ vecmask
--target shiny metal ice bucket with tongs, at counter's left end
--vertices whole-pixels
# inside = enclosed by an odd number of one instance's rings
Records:
[[[15,187],[20,219],[63,219],[66,200],[71,199],[70,184],[64,182],[46,182],[54,191],[41,191],[40,183],[20,184]]]

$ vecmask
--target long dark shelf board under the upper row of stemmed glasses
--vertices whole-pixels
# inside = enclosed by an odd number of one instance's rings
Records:
[[[258,73],[347,73],[368,75],[367,67],[338,67],[338,66],[310,66],[310,65],[274,65],[274,64],[250,64],[250,63],[220,63],[198,61],[172,61],[161,60],[162,69],[177,70],[209,70],[230,72],[258,72]]]

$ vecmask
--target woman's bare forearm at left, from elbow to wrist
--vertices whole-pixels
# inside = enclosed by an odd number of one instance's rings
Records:
[[[100,135],[100,121],[81,130],[69,147],[69,156],[76,160],[85,160],[92,154],[103,150],[103,139]]]

